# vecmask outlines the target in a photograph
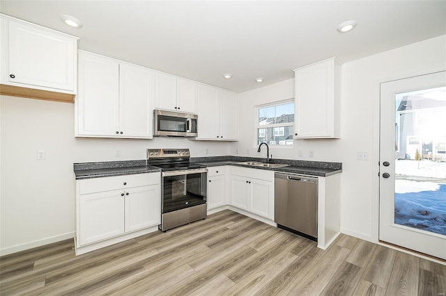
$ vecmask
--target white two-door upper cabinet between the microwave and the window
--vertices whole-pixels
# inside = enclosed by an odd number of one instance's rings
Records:
[[[199,85],[197,110],[197,140],[238,140],[237,94]]]

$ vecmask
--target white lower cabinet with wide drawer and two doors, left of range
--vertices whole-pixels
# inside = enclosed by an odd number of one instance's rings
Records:
[[[76,254],[157,230],[160,173],[76,181]]]

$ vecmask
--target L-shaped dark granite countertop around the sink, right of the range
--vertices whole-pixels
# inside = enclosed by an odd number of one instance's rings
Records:
[[[216,167],[220,165],[235,165],[238,167],[250,167],[259,170],[272,170],[275,172],[289,172],[293,174],[306,174],[309,176],[331,176],[342,172],[341,163],[328,163],[321,161],[294,161],[290,159],[272,159],[271,163],[286,163],[288,167],[257,167],[254,165],[243,165],[246,161],[265,162],[265,158],[241,157],[241,156],[210,156],[191,158],[194,163]]]

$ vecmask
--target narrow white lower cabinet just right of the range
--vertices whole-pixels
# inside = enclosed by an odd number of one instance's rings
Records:
[[[208,167],[208,210],[226,206],[226,167]]]

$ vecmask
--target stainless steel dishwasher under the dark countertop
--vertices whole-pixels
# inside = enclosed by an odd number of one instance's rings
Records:
[[[277,227],[317,241],[317,177],[276,172],[274,217]]]

